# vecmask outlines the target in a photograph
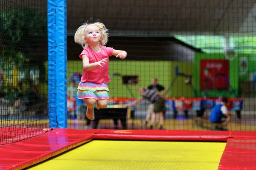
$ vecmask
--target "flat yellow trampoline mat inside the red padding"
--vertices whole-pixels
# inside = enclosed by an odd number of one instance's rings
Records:
[[[29,170],[217,170],[226,143],[93,140]]]

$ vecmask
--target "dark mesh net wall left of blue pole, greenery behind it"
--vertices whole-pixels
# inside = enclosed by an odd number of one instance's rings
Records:
[[[49,127],[47,81],[47,1],[1,0],[0,144]]]

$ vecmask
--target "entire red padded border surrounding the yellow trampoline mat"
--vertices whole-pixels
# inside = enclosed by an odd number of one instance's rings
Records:
[[[93,139],[223,141],[220,170],[256,169],[256,132],[193,130],[54,129],[39,136],[0,146],[0,170],[20,170]]]

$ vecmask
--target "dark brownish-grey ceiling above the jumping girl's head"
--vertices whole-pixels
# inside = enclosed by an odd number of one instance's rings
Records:
[[[242,27],[246,20],[250,22],[247,17],[255,3],[256,0],[67,0],[67,28],[69,34],[74,34],[82,23],[99,19],[116,36],[222,35],[248,30]]]

